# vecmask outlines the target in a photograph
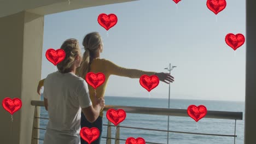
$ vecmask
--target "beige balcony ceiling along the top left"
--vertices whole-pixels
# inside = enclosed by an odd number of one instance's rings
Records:
[[[68,4],[70,1],[70,4]],[[0,17],[28,11],[39,15],[138,0],[0,0]]]

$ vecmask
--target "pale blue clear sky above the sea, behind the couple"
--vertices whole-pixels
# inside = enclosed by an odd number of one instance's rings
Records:
[[[168,73],[169,63],[177,66],[171,71],[171,99],[245,101],[246,44],[234,51],[225,43],[228,33],[246,35],[245,1],[226,3],[218,15],[206,0],[141,0],[46,15],[42,79],[56,71],[46,50],[76,38],[84,52],[85,35],[99,32],[101,58],[121,67]],[[117,15],[117,25],[106,31],[97,22],[101,13]],[[168,98],[168,84],[160,82],[149,93],[139,79],[112,75],[105,95]]]

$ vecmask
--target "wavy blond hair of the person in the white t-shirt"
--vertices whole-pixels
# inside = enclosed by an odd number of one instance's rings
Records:
[[[80,47],[77,39],[67,39],[61,45],[62,50],[65,51],[66,57],[63,61],[57,64],[60,73],[69,73],[75,57],[80,53]]]

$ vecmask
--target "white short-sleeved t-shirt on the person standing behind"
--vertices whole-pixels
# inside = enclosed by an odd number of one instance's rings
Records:
[[[49,113],[44,144],[80,143],[81,107],[92,105],[85,80],[56,71],[44,80],[43,95],[48,99]]]

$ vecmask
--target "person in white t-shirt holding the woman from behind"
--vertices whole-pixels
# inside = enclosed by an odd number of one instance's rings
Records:
[[[68,39],[61,49],[66,52],[65,59],[57,64],[58,71],[44,80],[44,103],[49,113],[44,144],[79,144],[81,111],[87,121],[94,122],[104,100],[95,98],[92,106],[87,83],[75,75],[82,62],[78,41]]]

